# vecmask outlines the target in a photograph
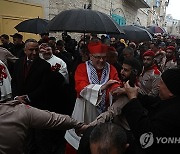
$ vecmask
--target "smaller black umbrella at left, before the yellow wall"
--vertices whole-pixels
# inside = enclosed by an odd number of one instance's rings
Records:
[[[16,25],[14,28],[18,32],[27,32],[27,33],[33,33],[33,34],[42,34],[47,33],[47,27],[48,20],[41,19],[41,18],[33,18],[28,19],[25,21],[22,21],[18,25]]]

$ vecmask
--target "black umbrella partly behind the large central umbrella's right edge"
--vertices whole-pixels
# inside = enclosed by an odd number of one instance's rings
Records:
[[[125,32],[125,38],[130,41],[143,42],[153,39],[152,35],[146,29],[134,25],[121,26],[121,28]]]

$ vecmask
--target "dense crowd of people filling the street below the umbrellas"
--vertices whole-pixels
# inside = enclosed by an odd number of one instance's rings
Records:
[[[15,33],[13,43],[0,36],[0,153],[179,150],[178,143],[155,141],[180,137],[179,39],[40,36],[23,42]],[[149,147],[145,133],[155,138]]]

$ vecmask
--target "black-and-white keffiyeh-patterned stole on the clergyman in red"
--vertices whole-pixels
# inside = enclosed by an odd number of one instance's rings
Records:
[[[86,62],[87,67],[87,74],[89,78],[90,84],[99,84],[103,85],[109,80],[109,73],[110,73],[110,65],[108,63],[105,64],[105,67],[103,68],[101,80],[98,79],[97,71],[94,68],[92,61],[89,60]],[[99,102],[99,105],[97,106],[98,111],[100,113],[106,111],[106,90],[102,92],[102,97]]]

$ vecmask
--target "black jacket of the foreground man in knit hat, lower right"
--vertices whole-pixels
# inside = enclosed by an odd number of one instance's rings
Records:
[[[167,139],[180,139],[180,97],[160,100],[140,96],[130,100],[122,111],[135,138],[141,140],[143,151],[151,154],[180,152],[180,140],[167,143]],[[148,134],[142,137],[144,133]],[[158,143],[160,138],[163,140]],[[148,144],[150,146],[145,148]]]

